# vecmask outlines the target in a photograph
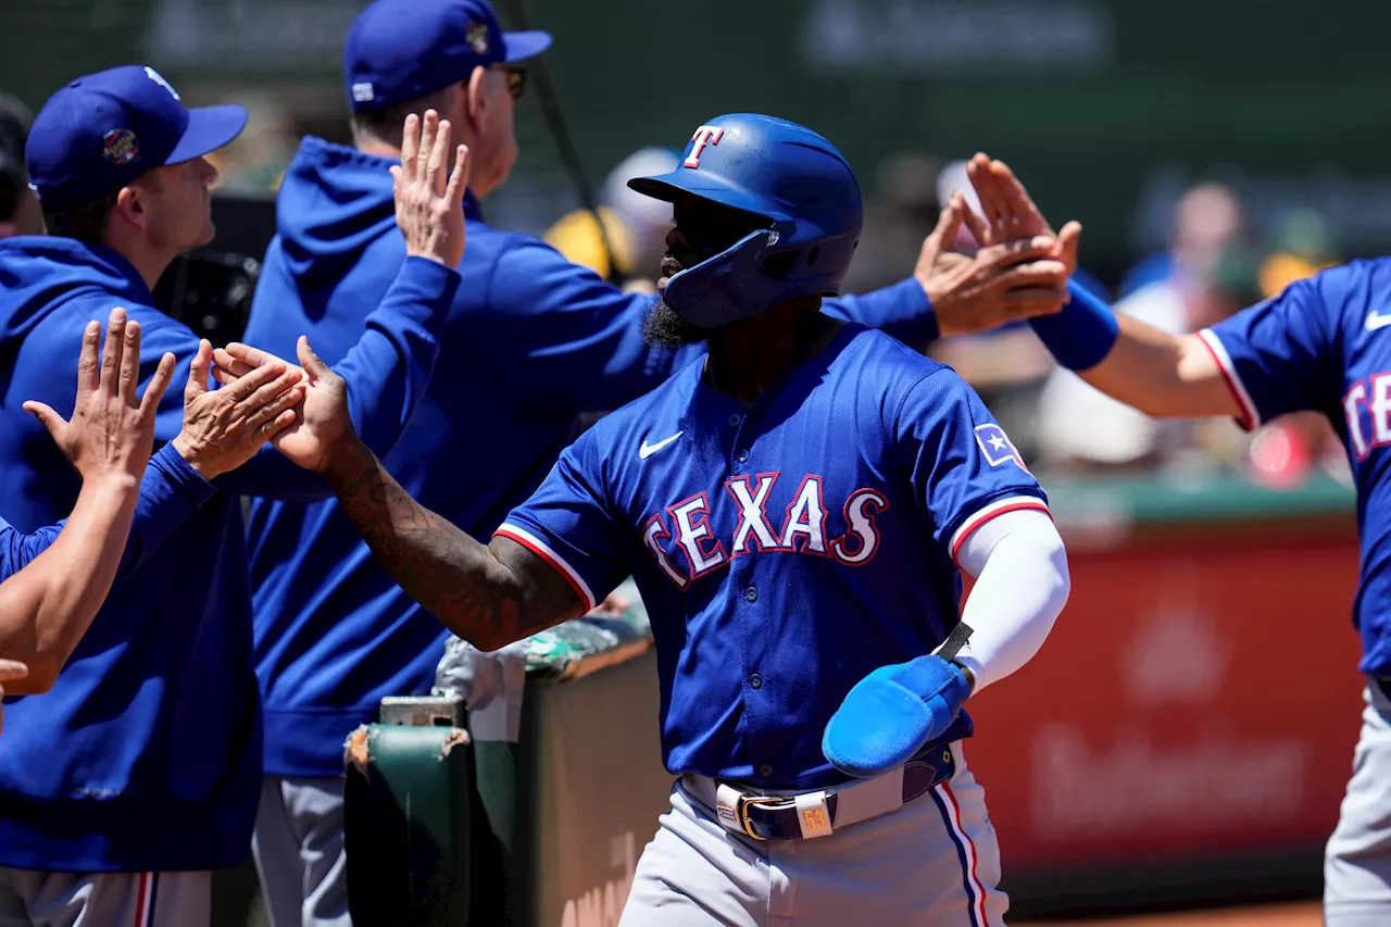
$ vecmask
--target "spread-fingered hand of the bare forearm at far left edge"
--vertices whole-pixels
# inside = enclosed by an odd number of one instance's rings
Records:
[[[25,402],[53,436],[83,480],[115,479],[138,486],[154,447],[154,413],[174,373],[174,355],[160,358],[145,395],[140,380],[140,323],[127,322],[125,309],[113,309],[106,323],[106,351],[97,352],[102,324],[89,322],[78,356],[78,398],[72,419],[43,402]]]

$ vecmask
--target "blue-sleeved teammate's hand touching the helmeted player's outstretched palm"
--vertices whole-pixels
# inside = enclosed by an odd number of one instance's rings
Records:
[[[213,345],[204,338],[189,362],[184,387],[184,430],[174,450],[203,479],[213,479],[252,459],[267,440],[295,423],[295,406],[305,398],[299,369],[270,363],[243,377],[220,379],[207,388]]]

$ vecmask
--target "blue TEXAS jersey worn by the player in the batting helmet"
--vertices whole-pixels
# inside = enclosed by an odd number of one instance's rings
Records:
[[[669,771],[832,785],[821,738],[846,693],[940,644],[963,540],[1046,497],[950,367],[860,324],[750,406],[702,372],[601,419],[497,533],[586,607],[636,579]],[[963,713],[944,739],[970,734]]]

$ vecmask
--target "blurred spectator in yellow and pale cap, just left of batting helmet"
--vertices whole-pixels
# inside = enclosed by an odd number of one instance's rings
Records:
[[[629,288],[657,292],[655,278],[666,253],[672,207],[633,192],[627,181],[672,171],[679,159],[680,154],[669,148],[633,152],[605,178],[600,191],[600,217],[587,209],[568,213],[545,232],[545,241],[570,263],[588,267],[605,280],[622,277],[632,284]],[[600,221],[604,235],[600,235]]]

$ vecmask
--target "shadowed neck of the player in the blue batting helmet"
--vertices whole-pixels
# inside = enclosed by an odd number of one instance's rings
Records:
[[[786,302],[709,337],[705,383],[750,405],[798,363],[821,352],[844,324],[821,301]]]

